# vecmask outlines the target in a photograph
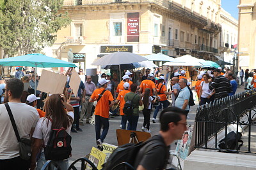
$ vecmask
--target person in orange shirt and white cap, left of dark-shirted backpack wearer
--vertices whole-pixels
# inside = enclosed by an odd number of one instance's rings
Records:
[[[125,104],[124,96],[125,96],[125,94],[130,92],[129,88],[130,88],[130,84],[125,82],[124,90],[118,94],[116,101],[115,101],[116,104],[120,102],[119,108],[120,108],[120,115],[122,117],[122,120],[121,120],[122,129],[126,129],[127,117],[124,115],[123,108],[124,108],[124,104]]]

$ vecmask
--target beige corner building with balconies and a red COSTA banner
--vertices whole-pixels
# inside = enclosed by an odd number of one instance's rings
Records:
[[[72,22],[57,32],[52,57],[84,69],[108,53],[125,51],[172,57],[190,54],[218,60],[221,25],[220,0],[64,0],[61,12]]]

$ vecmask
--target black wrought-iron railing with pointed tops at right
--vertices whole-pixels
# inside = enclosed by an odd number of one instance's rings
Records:
[[[209,104],[198,107],[195,118],[195,147],[211,150],[227,150],[218,148],[218,139],[220,138],[218,135],[220,135],[221,131],[225,131],[226,137],[228,134],[228,125],[233,125],[237,132],[242,126],[248,127],[248,150],[238,150],[237,147],[235,149],[236,152],[256,153],[251,152],[251,129],[252,126],[256,127],[255,106],[256,89],[252,89],[233,96],[217,99]],[[214,146],[212,143],[209,146],[209,140],[214,141]]]

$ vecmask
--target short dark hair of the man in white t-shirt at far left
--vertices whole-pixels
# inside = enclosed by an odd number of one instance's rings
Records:
[[[10,80],[6,80],[6,89],[12,92],[13,98],[19,99],[24,90],[24,83],[18,78],[12,78]]]

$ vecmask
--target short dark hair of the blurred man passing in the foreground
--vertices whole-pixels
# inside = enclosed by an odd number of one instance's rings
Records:
[[[180,115],[185,115],[186,112],[177,107],[168,107],[165,108],[160,114],[160,130],[163,132],[168,131],[169,123],[173,122],[177,124],[181,120]]]

